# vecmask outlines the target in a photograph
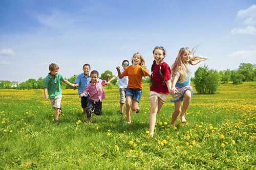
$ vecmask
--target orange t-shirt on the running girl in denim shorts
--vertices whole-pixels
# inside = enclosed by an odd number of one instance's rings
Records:
[[[149,75],[148,70],[142,69],[140,65],[133,67],[133,65],[128,66],[123,72],[122,76],[128,76],[129,82],[127,87],[129,88],[139,88],[142,90],[142,77]]]

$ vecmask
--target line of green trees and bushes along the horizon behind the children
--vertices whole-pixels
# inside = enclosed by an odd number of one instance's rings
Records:
[[[101,75],[101,79],[105,79],[106,75],[110,74],[113,76],[112,71],[106,70]],[[69,82],[74,82],[77,75],[74,75],[67,80]],[[227,83],[233,82],[233,84],[241,84],[242,82],[256,81],[256,64],[251,63],[241,63],[238,69],[235,70],[214,70],[209,69],[208,66],[199,67],[195,72],[195,77],[191,79],[194,82],[197,91],[201,93],[215,93],[219,82]],[[107,88],[112,88],[116,85],[117,80],[112,82]],[[150,78],[143,79],[144,83],[149,83]],[[208,85],[206,85],[208,84]],[[71,89],[72,87],[62,83],[62,89]],[[208,87],[208,89],[206,88]],[[25,82],[18,83],[16,81],[0,80],[0,89],[42,89],[44,88],[44,78],[28,79]],[[200,89],[200,90],[199,90]]]

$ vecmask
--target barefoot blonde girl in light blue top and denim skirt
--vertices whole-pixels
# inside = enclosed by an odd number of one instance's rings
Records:
[[[195,48],[191,51],[188,47],[180,48],[179,54],[172,65],[172,87],[174,112],[172,116],[172,124],[175,125],[176,119],[180,113],[181,101],[183,101],[181,109],[181,122],[186,123],[185,113],[188,109],[193,89],[190,86],[191,69],[190,65],[196,65],[201,61],[208,59],[207,57],[195,56]]]

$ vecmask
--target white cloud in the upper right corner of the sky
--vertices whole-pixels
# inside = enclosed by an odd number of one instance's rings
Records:
[[[256,5],[252,5],[245,10],[239,10],[237,14],[238,19],[245,19],[243,23],[245,25],[255,25],[256,24]]]

